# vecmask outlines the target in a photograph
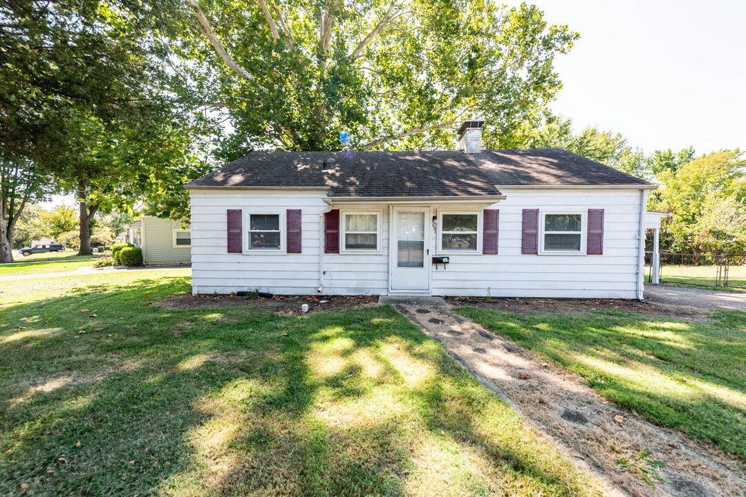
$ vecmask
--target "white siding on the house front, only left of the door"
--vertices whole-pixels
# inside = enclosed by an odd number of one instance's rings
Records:
[[[227,294],[258,288],[273,294],[318,295],[319,251],[324,250],[322,214],[329,209],[323,196],[304,191],[192,191],[192,292]],[[267,206],[301,209],[302,252],[228,253],[226,211],[242,209],[245,215]],[[381,221],[380,253],[324,254],[322,294],[386,294],[388,209],[383,209]],[[286,233],[282,236],[284,240]]]

